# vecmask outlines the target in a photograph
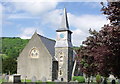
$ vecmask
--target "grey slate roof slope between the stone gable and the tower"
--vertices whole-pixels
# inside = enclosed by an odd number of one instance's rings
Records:
[[[42,40],[42,42],[45,45],[45,47],[48,49],[48,51],[51,54],[51,56],[54,58],[54,56],[55,56],[55,42],[56,41],[52,40],[52,39],[49,39],[47,37],[41,36],[39,34],[38,34],[38,36]]]

